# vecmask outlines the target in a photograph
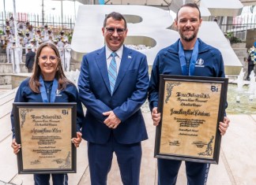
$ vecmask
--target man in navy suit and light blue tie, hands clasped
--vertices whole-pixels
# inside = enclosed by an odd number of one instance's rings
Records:
[[[148,139],[141,105],[147,98],[149,74],[144,54],[123,45],[126,20],[105,17],[106,46],[86,54],[78,88],[86,106],[82,137],[88,141],[91,183],[107,184],[115,152],[123,184],[139,184],[141,141]]]

